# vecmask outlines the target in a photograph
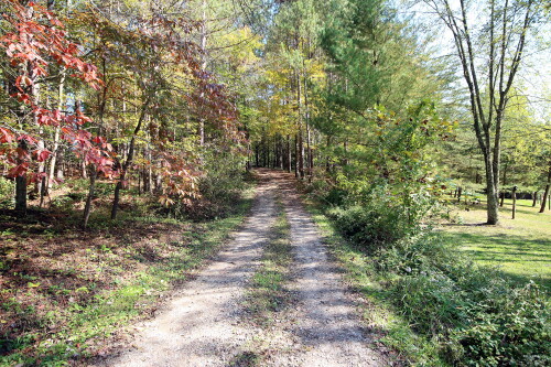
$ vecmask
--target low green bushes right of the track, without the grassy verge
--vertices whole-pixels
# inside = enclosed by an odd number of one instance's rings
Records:
[[[437,233],[411,224],[388,201],[327,211],[368,252],[385,293],[420,335],[455,366],[549,366],[550,304],[533,283],[519,288],[473,263]]]

